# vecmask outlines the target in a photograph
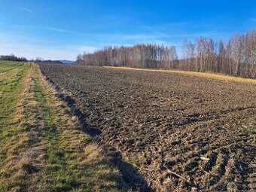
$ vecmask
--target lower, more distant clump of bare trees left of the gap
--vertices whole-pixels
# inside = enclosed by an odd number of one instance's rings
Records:
[[[79,54],[77,63],[87,66],[128,66],[172,69],[178,64],[175,47],[159,44],[104,47],[95,53]]]

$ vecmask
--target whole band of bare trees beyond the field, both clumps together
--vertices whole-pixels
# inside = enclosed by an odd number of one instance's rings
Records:
[[[233,35],[227,43],[203,37],[194,42],[185,40],[182,54],[182,58],[178,59],[175,46],[160,44],[108,46],[94,53],[79,54],[76,63],[88,66],[181,69],[256,78],[256,30],[245,35]]]

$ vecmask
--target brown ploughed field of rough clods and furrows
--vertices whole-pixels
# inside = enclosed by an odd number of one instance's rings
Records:
[[[154,190],[256,190],[254,85],[100,67],[41,71]]]

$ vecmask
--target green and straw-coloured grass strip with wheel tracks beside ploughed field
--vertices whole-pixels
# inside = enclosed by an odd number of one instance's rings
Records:
[[[38,66],[0,62],[0,191],[127,191]]]

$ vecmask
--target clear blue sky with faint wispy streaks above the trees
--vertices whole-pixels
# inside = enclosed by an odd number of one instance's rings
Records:
[[[256,28],[256,1],[0,0],[0,54],[75,59],[105,45],[227,39]]]

